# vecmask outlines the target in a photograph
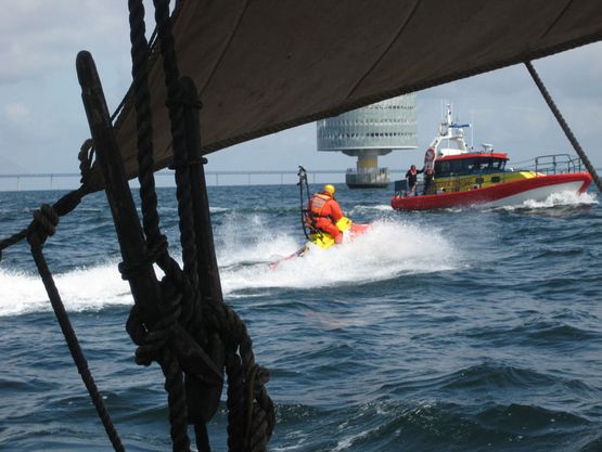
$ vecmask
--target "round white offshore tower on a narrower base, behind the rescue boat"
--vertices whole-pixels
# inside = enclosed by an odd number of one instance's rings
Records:
[[[318,121],[318,151],[358,157],[345,176],[347,186],[388,186],[389,172],[379,168],[379,156],[417,148],[415,99],[405,94]]]

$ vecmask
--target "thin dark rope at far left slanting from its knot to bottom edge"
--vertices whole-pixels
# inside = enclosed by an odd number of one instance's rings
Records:
[[[113,449],[118,452],[125,451],[121,440],[115,430],[111,416],[108,415],[102,397],[97,388],[92,374],[90,373],[88,362],[81,347],[79,346],[77,335],[72,326],[65,306],[61,299],[61,295],[56,289],[56,285],[54,284],[54,280],[42,254],[42,246],[46,238],[49,235],[53,235],[55,232],[56,224],[59,223],[59,214],[49,205],[42,205],[40,210],[36,210],[34,212],[34,218],[35,220],[33,221],[31,227],[28,228],[27,241],[31,246],[31,255],[34,256],[34,260],[42,279],[46,292],[48,293],[52,309],[54,310],[54,314],[56,315],[56,320],[59,321],[59,325],[61,326],[63,336],[65,337],[65,341],[69,348],[69,352],[73,357],[75,365],[77,366],[77,371],[88,389],[88,393],[90,395],[94,408],[97,409],[97,413],[102,421],[106,435],[113,444]]]

